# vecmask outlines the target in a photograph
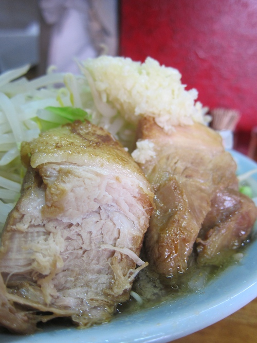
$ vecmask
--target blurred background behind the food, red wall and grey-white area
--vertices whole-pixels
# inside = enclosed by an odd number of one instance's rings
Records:
[[[233,147],[249,154],[257,127],[255,0],[0,1],[1,73],[26,63],[29,77],[52,64],[76,73],[74,57],[102,53],[177,68],[210,111],[237,114]]]

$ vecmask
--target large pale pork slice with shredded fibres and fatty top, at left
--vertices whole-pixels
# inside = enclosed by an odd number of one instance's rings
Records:
[[[143,263],[148,181],[89,122],[42,133],[21,155],[28,171],[0,250],[2,326],[31,333],[36,322],[59,316],[79,326],[109,320]]]

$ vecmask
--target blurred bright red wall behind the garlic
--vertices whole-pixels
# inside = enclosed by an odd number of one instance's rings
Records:
[[[210,108],[257,126],[256,0],[121,0],[120,55],[173,66]]]

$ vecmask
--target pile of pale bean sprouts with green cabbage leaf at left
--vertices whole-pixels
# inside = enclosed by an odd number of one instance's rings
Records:
[[[0,231],[19,198],[22,141],[78,119],[99,122],[84,76],[51,72],[29,81],[28,69],[0,75]]]

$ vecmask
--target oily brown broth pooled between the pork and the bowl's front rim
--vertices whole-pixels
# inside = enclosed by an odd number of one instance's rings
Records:
[[[193,252],[188,261],[188,269],[176,279],[160,277],[151,266],[145,267],[135,278],[132,287],[132,291],[136,292],[142,301],[138,302],[131,296],[130,300],[118,305],[117,313],[132,314],[152,308],[167,300],[204,292],[205,286],[219,277],[226,268],[240,263],[245,249],[257,239],[256,236],[257,234],[253,232],[240,248],[223,251],[219,255],[218,265],[199,265],[196,262],[196,253]],[[144,254],[141,258],[146,260]]]

